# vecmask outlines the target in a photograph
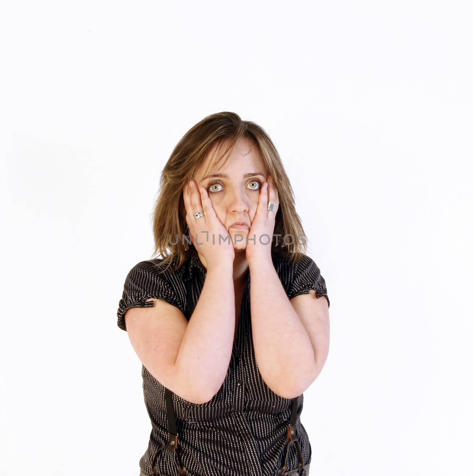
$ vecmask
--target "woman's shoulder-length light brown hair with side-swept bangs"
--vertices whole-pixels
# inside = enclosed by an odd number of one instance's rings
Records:
[[[268,175],[274,179],[278,195],[279,207],[276,211],[274,234],[280,234],[276,246],[273,240],[271,253],[287,258],[290,262],[305,254],[306,242],[299,243],[299,237],[305,237],[301,219],[296,213],[294,191],[286,175],[283,163],[266,131],[252,121],[241,120],[234,112],[218,112],[202,119],[189,129],[179,140],[164,166],[159,181],[159,194],[153,212],[154,257],[161,256],[159,267],[170,266],[176,258],[175,269],[179,269],[187,260],[191,250],[186,249],[183,235],[187,228],[186,208],[184,205],[183,188],[195,174],[207,157],[207,153],[216,144],[209,165],[214,156],[219,155],[221,147],[227,148],[217,159],[218,165],[227,161],[228,156],[241,138],[250,139],[262,157]],[[292,243],[286,244],[283,237],[292,235]],[[171,241],[176,241],[172,244]],[[171,239],[170,239],[171,238]],[[194,245],[191,244],[191,247]]]

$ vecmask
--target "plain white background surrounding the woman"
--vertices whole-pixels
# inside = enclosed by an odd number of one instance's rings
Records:
[[[172,149],[225,110],[275,142],[331,299],[310,473],[472,474],[468,3],[3,3],[2,475],[138,476],[118,301]]]

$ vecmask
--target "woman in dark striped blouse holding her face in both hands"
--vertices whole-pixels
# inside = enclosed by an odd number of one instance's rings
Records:
[[[328,355],[329,300],[266,132],[231,112],[191,128],[153,226],[162,258],[130,270],[118,307],[152,424],[140,476],[308,476],[300,414]]]

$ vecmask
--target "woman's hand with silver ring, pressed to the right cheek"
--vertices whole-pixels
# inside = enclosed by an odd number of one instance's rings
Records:
[[[267,184],[267,188],[265,187]],[[246,245],[246,259],[270,258],[273,243],[276,213],[279,207],[279,194],[273,178],[268,175],[259,191],[258,207],[253,223],[248,231],[248,243]],[[268,201],[276,203],[276,210],[268,210]]]

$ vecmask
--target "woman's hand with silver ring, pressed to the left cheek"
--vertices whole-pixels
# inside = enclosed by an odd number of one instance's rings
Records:
[[[202,190],[201,193],[195,180],[191,180],[184,186],[186,222],[192,243],[197,252],[205,258],[207,268],[209,265],[213,266],[227,259],[233,263],[235,250],[232,239],[227,229],[218,219],[207,190],[205,188],[202,188]],[[204,216],[195,218],[194,213],[198,211],[203,211]]]

